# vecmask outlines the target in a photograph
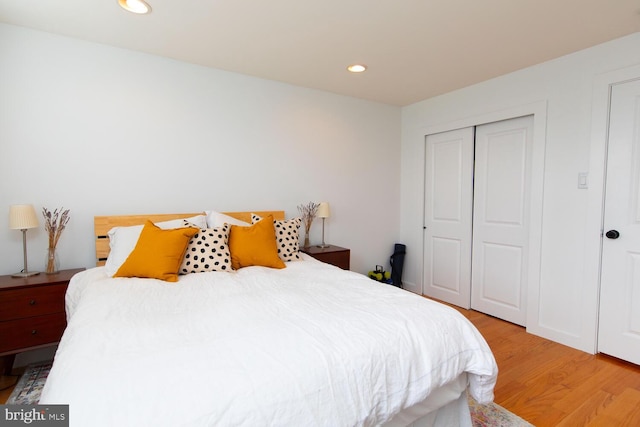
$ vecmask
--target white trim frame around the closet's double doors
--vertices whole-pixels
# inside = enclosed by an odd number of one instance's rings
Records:
[[[539,326],[540,306],[540,260],[542,248],[542,207],[544,196],[544,160],[547,140],[547,101],[538,101],[531,104],[514,106],[504,110],[471,116],[448,123],[426,126],[422,129],[424,145],[426,147],[427,135],[448,132],[460,128],[480,126],[502,120],[514,119],[522,116],[533,116],[533,149],[531,153],[531,201],[529,206],[530,239],[529,239],[529,271],[527,277],[527,331],[543,335],[545,328]],[[424,165],[423,165],[424,171]],[[423,177],[424,179],[424,177]],[[424,221],[424,185],[423,185],[423,211]],[[424,225],[424,224],[423,224]],[[422,275],[424,278],[424,235],[422,239]],[[424,280],[422,280],[424,282]],[[421,287],[424,283],[421,284]],[[421,293],[424,289],[421,289]]]

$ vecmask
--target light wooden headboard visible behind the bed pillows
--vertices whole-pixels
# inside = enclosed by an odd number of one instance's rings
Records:
[[[251,214],[261,217],[273,215],[274,219],[283,220],[284,211],[249,211],[249,212],[223,212],[225,215],[251,224]],[[93,217],[94,235],[96,238],[96,265],[101,266],[109,256],[109,236],[107,233],[113,227],[128,227],[141,225],[147,220],[152,222],[170,221],[172,219],[189,218],[196,215],[204,215],[204,212],[181,214],[151,214],[151,215],[115,215]]]

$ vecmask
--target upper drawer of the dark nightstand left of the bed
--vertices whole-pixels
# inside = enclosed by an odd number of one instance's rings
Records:
[[[64,313],[67,284],[33,286],[0,294],[0,322],[43,314]]]

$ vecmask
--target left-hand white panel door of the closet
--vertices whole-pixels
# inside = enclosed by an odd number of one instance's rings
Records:
[[[423,293],[469,308],[473,133],[428,135],[425,152]]]

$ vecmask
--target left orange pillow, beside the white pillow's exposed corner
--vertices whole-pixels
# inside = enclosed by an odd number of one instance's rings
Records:
[[[163,230],[147,221],[136,247],[113,277],[149,277],[177,282],[189,240],[198,231],[193,227]]]

